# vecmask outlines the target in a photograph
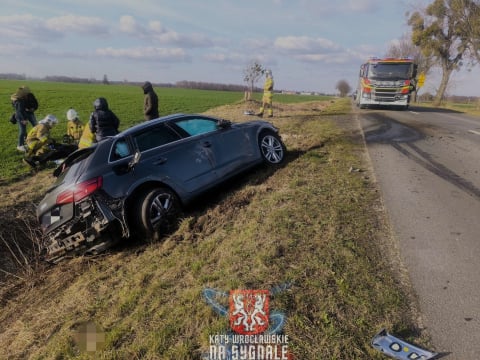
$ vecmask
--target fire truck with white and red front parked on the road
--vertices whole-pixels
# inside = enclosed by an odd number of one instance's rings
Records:
[[[371,58],[360,66],[356,105],[361,109],[374,105],[408,109],[416,76],[412,59]]]

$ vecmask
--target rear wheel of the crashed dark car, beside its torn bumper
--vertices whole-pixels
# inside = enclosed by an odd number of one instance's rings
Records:
[[[180,203],[170,189],[155,188],[139,196],[133,206],[135,236],[159,240],[171,231],[180,213]]]

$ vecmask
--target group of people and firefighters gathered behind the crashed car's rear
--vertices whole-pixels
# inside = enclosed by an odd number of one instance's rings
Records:
[[[144,118],[152,120],[159,117],[158,96],[149,81],[142,85],[144,92]],[[43,167],[48,161],[63,159],[71,152],[89,147],[94,142],[118,134],[120,120],[109,109],[105,98],[99,97],[93,102],[94,111],[90,114],[88,125],[80,121],[77,111],[71,108],[67,111],[67,132],[62,143],[58,143],[51,136],[50,130],[58,124],[55,115],[48,114],[37,124],[35,111],[38,102],[27,86],[22,86],[12,94],[12,106],[15,111],[11,122],[18,123],[19,135],[17,150],[24,152],[23,161],[34,170]],[[30,122],[32,129],[27,133],[27,124]]]

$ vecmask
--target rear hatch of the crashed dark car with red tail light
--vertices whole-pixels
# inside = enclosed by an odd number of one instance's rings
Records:
[[[74,200],[79,196],[88,196],[101,186],[101,178],[95,179],[95,182],[79,181],[94,152],[95,148],[76,151],[54,171],[57,180],[37,207],[37,218],[44,233],[47,234],[71,220],[75,216]]]

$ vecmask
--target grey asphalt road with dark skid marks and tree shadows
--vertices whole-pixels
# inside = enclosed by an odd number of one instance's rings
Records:
[[[358,110],[375,176],[442,359],[480,359],[480,120]]]

